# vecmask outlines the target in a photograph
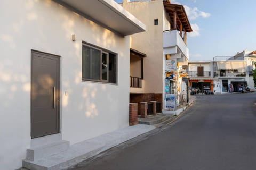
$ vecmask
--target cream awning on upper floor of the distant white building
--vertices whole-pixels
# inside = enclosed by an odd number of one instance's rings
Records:
[[[246,69],[246,61],[221,61],[217,62],[217,69]]]

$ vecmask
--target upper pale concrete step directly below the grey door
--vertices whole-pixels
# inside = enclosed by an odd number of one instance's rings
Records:
[[[48,143],[43,146],[36,146],[27,149],[27,159],[34,161],[43,157],[58,154],[59,152],[69,149],[69,141],[60,140]]]

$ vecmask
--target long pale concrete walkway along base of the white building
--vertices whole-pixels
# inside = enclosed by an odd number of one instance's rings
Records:
[[[70,145],[69,149],[58,154],[47,156],[34,161],[23,160],[24,168],[30,170],[60,170],[67,169],[70,166],[76,165],[83,160],[91,158],[102,151],[106,151],[114,146],[117,146],[127,140],[137,137],[143,133],[155,129],[149,125],[134,125],[120,130],[106,133],[83,142]]]

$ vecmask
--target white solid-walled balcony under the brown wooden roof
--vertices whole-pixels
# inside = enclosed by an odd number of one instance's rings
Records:
[[[182,53],[189,59],[189,50],[177,30],[163,32],[164,54]]]

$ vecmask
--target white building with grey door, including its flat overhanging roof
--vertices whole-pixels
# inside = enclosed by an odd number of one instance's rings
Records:
[[[113,0],[3,0],[0,17],[1,169],[129,126],[128,35],[144,24]]]

